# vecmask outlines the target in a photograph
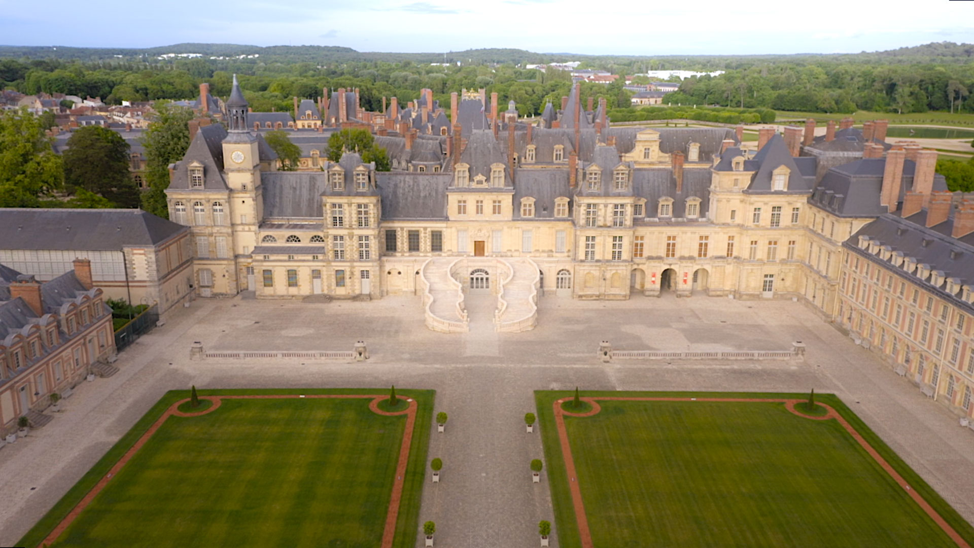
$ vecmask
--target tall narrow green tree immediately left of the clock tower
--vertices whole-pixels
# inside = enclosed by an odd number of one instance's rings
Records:
[[[189,148],[189,121],[193,111],[171,104],[156,106],[152,123],[142,137],[145,145],[146,181],[149,190],[142,194],[142,209],[169,218],[166,189],[169,188],[169,164],[178,162]]]

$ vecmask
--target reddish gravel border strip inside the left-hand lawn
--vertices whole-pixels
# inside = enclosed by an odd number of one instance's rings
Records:
[[[368,404],[369,410],[377,414],[382,414],[387,416],[395,416],[400,414],[406,415],[406,427],[402,433],[402,445],[399,448],[399,460],[398,462],[396,462],[395,465],[395,480],[393,480],[393,490],[389,499],[389,510],[386,512],[386,525],[382,533],[381,547],[392,548],[393,537],[395,536],[395,521],[396,519],[398,519],[399,516],[399,504],[402,500],[402,489],[406,477],[406,464],[409,462],[409,448],[412,445],[413,429],[415,428],[416,425],[417,405],[416,405],[416,401],[413,400],[412,398],[403,398],[409,403],[409,407],[405,411],[394,411],[394,412],[382,411],[379,409],[379,402],[389,399],[389,396],[382,396],[376,394],[306,394],[306,395],[268,394],[268,395],[200,396],[201,400],[209,400],[210,402],[213,403],[213,405],[210,406],[208,409],[200,412],[179,411],[178,410],[179,406],[185,402],[188,402],[189,398],[186,398],[184,400],[179,400],[178,402],[175,402],[171,406],[169,406],[169,409],[167,409],[162,416],[160,416],[155,422],[152,423],[152,426],[150,426],[149,429],[146,430],[145,433],[142,434],[142,436],[139,437],[139,439],[131,446],[131,448],[127,450],[125,454],[122,455],[121,458],[119,458],[118,462],[116,462],[111,467],[111,469],[108,470],[108,473],[105,474],[100,480],[98,480],[98,483],[94,485],[92,490],[88,491],[88,493],[85,494],[84,498],[82,498],[81,501],[78,502],[78,504],[75,505],[75,507],[72,508],[70,512],[68,512],[67,516],[64,516],[64,519],[62,519],[60,523],[57,524],[57,527],[54,528],[54,530],[52,530],[51,533],[48,534],[48,536],[45,537],[43,541],[41,541],[41,543],[38,545],[38,548],[54,544],[57,537],[60,536],[62,532],[64,532],[64,529],[68,528],[68,526],[70,526],[71,523],[74,522],[75,518],[77,518],[78,515],[80,515],[85,510],[85,508],[87,508],[88,505],[92,503],[92,500],[94,500],[94,497],[97,496],[99,492],[101,492],[101,489],[105,489],[105,486],[108,485],[108,482],[113,477],[118,475],[119,471],[122,470],[122,467],[125,466],[126,463],[129,462],[129,460],[131,460],[131,457],[134,456],[135,453],[138,450],[140,450],[142,446],[145,445],[146,442],[149,441],[149,438],[151,438],[153,434],[155,434],[156,431],[159,430],[159,427],[162,426],[164,422],[166,422],[166,419],[169,418],[169,415],[175,415],[175,416],[204,415],[206,413],[216,411],[217,409],[219,409],[221,400],[248,400],[248,399],[268,400],[268,399],[298,399],[298,398],[308,398],[308,399],[372,398],[372,401],[369,402]]]

